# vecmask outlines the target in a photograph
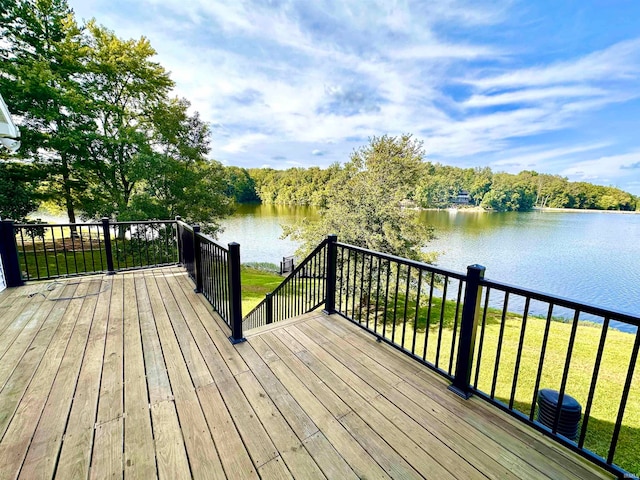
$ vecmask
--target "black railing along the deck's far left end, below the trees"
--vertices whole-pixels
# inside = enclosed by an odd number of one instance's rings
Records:
[[[105,218],[101,223],[2,223],[6,244],[15,246],[18,282],[178,262],[173,220],[110,222]],[[13,242],[8,238],[11,232]]]

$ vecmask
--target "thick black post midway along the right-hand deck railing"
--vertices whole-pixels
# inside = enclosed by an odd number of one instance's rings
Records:
[[[458,342],[458,359],[453,384],[449,390],[464,399],[469,398],[473,391],[470,388],[471,367],[476,345],[476,331],[480,314],[482,287],[480,281],[484,278],[485,268],[482,265],[467,267],[467,286],[464,292],[462,306],[462,322],[460,325],[460,340]]]

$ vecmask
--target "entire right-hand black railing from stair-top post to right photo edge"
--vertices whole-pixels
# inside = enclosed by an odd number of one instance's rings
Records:
[[[485,280],[478,265],[465,275],[342,243],[332,257],[327,310],[444,375],[456,394],[617,475],[640,472],[638,316]],[[550,411],[540,400],[549,394]]]

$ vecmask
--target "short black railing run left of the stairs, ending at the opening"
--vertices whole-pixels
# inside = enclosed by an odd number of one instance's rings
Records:
[[[178,257],[195,291],[202,293],[231,329],[232,343],[244,341],[240,282],[240,245],[224,247],[203,234],[199,225],[188,225],[176,218]]]

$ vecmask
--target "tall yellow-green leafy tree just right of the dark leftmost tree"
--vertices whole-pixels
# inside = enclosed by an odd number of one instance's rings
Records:
[[[122,40],[95,22],[87,32],[85,88],[98,134],[84,163],[83,210],[87,217],[121,218],[146,176],[145,159],[154,153],[152,118],[168,102],[173,82],[151,60],[156,52],[147,39]]]

